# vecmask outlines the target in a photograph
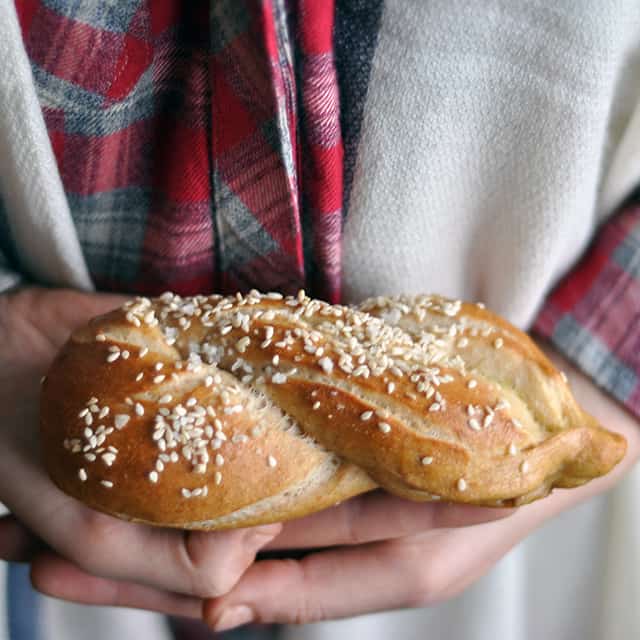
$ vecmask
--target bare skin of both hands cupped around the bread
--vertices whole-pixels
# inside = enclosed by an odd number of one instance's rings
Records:
[[[583,408],[627,438],[623,462],[584,487],[518,510],[373,492],[230,532],[126,523],[60,492],[39,464],[37,438],[40,376],[70,331],[122,300],[35,288],[0,296],[0,501],[13,514],[0,519],[0,558],[30,562],[36,588],[58,598],[204,617],[217,630],[427,606],[463,591],[546,520],[611,488],[640,455],[637,419],[542,345]],[[291,557],[254,562],[259,551]]]

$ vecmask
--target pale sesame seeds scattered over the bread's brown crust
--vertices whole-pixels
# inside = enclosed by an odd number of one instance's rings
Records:
[[[261,426],[248,433],[233,431],[229,421],[241,419],[248,404],[264,399],[262,393],[268,396],[272,385],[286,385],[301,372],[307,377],[314,373],[319,380],[330,378],[336,387],[354,381],[374,385],[390,401],[417,403],[428,422],[429,416],[447,412],[448,385],[462,380],[468,395],[477,389],[478,381],[467,371],[464,357],[473,339],[495,333],[493,348],[505,344],[507,336],[500,330],[489,323],[470,322],[461,308],[460,301],[439,296],[373,298],[354,308],[311,299],[304,291],[288,297],[251,291],[232,297],[183,298],[165,293],[156,299],[136,298],[122,309],[125,322],[154,331],[174,357],[156,353],[153,346],[150,350],[122,344],[108,331],[95,333],[96,342],[108,344],[104,366],[113,367],[114,373],[120,362],[140,362],[133,375],[139,392],[113,406],[89,398],[77,414],[82,437],[65,439],[64,447],[81,460],[80,482],[95,476],[101,486],[112,489],[114,480],[108,472],[117,465],[119,451],[109,437],[127,429],[133,419],[145,418],[156,449],[156,458],[145,471],[149,484],[161,483],[170,465],[188,464],[202,479],[197,486],[179,489],[182,498],[191,499],[206,497],[222,484],[227,452],[264,433]],[[408,316],[421,324],[418,334],[399,326]],[[231,380],[228,374],[233,375]],[[185,375],[199,381],[186,398],[174,391]],[[336,391],[330,394],[335,395]],[[309,411],[324,408],[315,390],[308,394],[308,402]],[[490,429],[496,415],[509,407],[506,398],[492,405],[468,402],[463,407],[466,428]],[[328,418],[343,409],[344,404],[333,406],[335,413]],[[383,435],[394,429],[392,418],[393,413],[380,406],[359,415],[363,424]],[[522,428],[515,418],[510,425]],[[504,454],[518,452],[511,442]],[[277,469],[275,451],[264,451],[262,459],[266,468]],[[434,461],[437,456],[424,450],[416,455],[415,465],[427,472]],[[528,465],[523,464],[521,472],[526,471]],[[464,477],[454,484],[458,492],[467,490]]]

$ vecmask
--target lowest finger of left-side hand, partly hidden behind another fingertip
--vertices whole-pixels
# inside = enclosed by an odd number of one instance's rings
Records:
[[[41,593],[81,604],[131,607],[190,618],[200,618],[202,611],[199,598],[92,576],[53,554],[34,560],[31,581]]]

